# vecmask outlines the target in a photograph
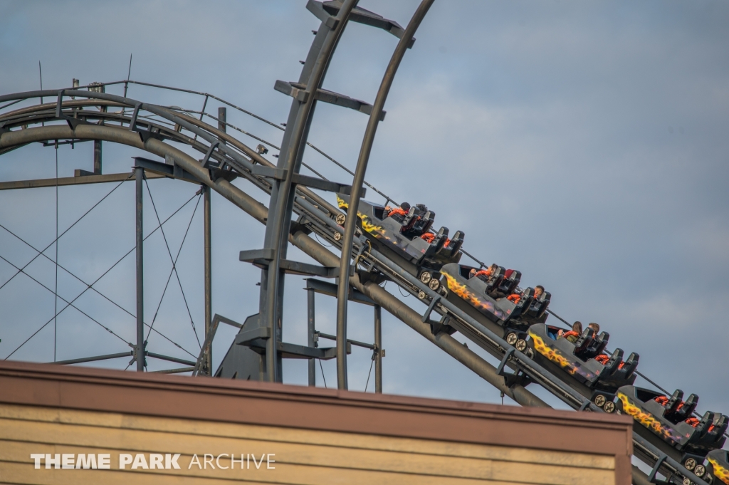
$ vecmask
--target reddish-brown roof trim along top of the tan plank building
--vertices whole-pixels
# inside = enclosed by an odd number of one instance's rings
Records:
[[[0,362],[0,403],[632,454],[632,420],[616,414],[28,362]]]

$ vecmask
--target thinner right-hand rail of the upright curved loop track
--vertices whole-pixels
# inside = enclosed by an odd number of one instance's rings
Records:
[[[380,120],[383,107],[387,95],[390,92],[392,81],[397,73],[397,68],[402,61],[405,51],[408,50],[408,44],[410,39],[413,38],[420,23],[428,13],[428,9],[433,4],[434,0],[423,0],[418,6],[413,18],[410,19],[410,23],[405,28],[405,34],[402,34],[397,47],[395,47],[394,53],[390,58],[390,63],[387,65],[387,69],[382,78],[380,89],[378,90],[375,103],[373,104],[372,113],[370,113],[370,120],[367,123],[367,129],[364,131],[364,138],[362,139],[362,147],[359,150],[359,158],[357,160],[357,166],[354,170],[354,179],[352,181],[352,192],[349,198],[349,207],[347,209],[347,218],[344,224],[344,237],[342,238],[342,257],[339,263],[339,274],[349,274],[352,252],[352,239],[354,238],[354,228],[357,220],[357,207],[359,206],[359,199],[362,197],[362,182],[364,182],[364,172],[367,171],[367,162],[370,160],[370,152],[372,151],[372,144],[375,140],[375,133]],[[347,299],[349,292],[349,284],[346,279],[339,279],[339,287],[337,290],[337,384],[339,389],[347,388],[347,352],[346,352],[346,341],[347,341]]]

